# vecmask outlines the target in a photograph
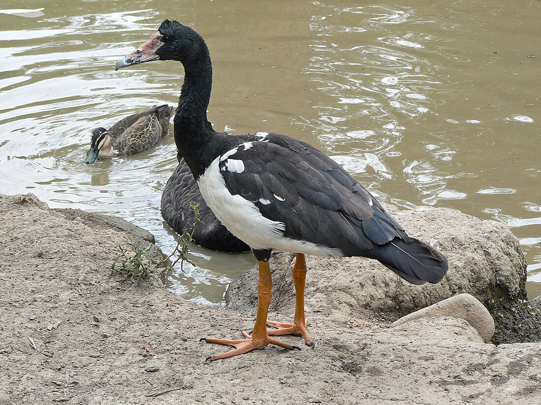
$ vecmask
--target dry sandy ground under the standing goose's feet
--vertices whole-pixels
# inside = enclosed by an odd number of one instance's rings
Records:
[[[223,348],[199,338],[240,337],[253,315],[111,276],[131,238],[0,195],[0,404],[541,403],[541,343],[496,347],[454,318],[311,312],[314,350],[205,362]]]

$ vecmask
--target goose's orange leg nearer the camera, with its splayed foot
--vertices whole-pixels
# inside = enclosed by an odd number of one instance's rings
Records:
[[[234,350],[229,350],[226,353],[216,354],[214,356],[207,357],[206,360],[219,360],[226,357],[236,356],[237,354],[243,354],[251,352],[254,349],[261,350],[265,346],[271,344],[280,346],[289,350],[299,349],[300,347],[288,345],[288,343],[280,342],[279,340],[269,337],[267,334],[267,314],[269,311],[269,305],[272,299],[272,280],[271,270],[269,269],[268,261],[259,261],[259,282],[258,282],[258,315],[255,318],[255,326],[252,335],[242,332],[245,339],[215,339],[215,338],[202,338],[200,341],[206,341],[207,343],[218,343],[220,345],[233,346]]]

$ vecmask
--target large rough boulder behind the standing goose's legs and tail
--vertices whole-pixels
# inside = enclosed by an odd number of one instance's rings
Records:
[[[511,313],[523,313],[526,299],[526,262],[518,239],[509,228],[446,208],[418,207],[387,210],[411,236],[424,240],[449,260],[449,271],[439,284],[408,284],[378,261],[365,258],[307,257],[308,311],[342,311],[355,316],[362,309],[405,315],[460,293],[481,301],[496,321],[494,342],[529,341],[518,337],[520,328],[506,325]],[[292,311],[294,255],[279,253],[271,259],[273,309]],[[228,308],[254,311],[257,269],[234,280],[226,293]],[[500,322],[499,322],[500,321]],[[518,321],[518,320],[517,320]],[[514,332],[509,329],[516,329]],[[532,328],[532,331],[534,329]],[[535,334],[535,333],[534,333]],[[537,331],[539,334],[539,331]],[[539,337],[539,336],[537,336]]]

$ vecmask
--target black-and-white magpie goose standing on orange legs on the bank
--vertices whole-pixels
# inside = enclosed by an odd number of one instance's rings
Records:
[[[300,349],[275,335],[306,330],[305,254],[363,256],[379,260],[413,284],[439,282],[447,260],[430,245],[408,237],[378,201],[321,151],[273,132],[229,136],[207,121],[212,65],[203,38],[177,21],[164,21],[143,45],[116,63],[116,70],[151,60],[176,60],[184,83],[175,114],[175,143],[193,173],[204,201],[227,229],[246,242],[259,265],[258,312],[243,339],[203,338],[233,346],[218,360],[268,344]],[[296,253],[293,266],[295,315],[292,323],[267,322],[273,249]],[[267,325],[273,327],[267,330]]]

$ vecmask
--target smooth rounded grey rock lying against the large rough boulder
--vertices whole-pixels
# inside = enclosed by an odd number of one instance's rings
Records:
[[[453,316],[464,319],[473,326],[485,342],[490,342],[494,335],[494,320],[488,309],[470,294],[458,294],[437,302],[429,307],[419,309],[393,322],[393,326],[402,325],[428,316]]]

